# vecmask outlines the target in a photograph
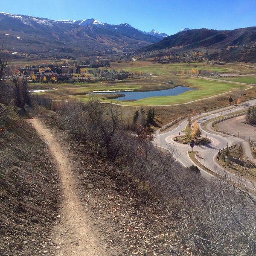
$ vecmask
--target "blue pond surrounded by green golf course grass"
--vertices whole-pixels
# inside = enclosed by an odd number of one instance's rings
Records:
[[[197,90],[196,88],[189,88],[185,86],[177,86],[172,89],[167,90],[157,90],[157,91],[147,91],[147,92],[137,92],[137,91],[116,91],[116,92],[109,92],[109,91],[101,91],[101,92],[93,92],[90,94],[123,94],[125,96],[118,97],[118,100],[138,100],[138,99],[145,99],[149,97],[158,97],[158,96],[177,96],[181,93],[184,93],[188,90]]]

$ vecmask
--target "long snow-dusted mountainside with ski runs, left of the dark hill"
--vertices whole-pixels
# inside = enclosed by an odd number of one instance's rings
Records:
[[[0,38],[13,54],[56,57],[132,51],[159,41],[131,26],[80,26],[76,23],[0,13]]]

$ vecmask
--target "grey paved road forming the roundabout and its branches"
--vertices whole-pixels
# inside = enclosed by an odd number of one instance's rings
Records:
[[[223,149],[227,146],[234,145],[236,143],[242,143],[244,140],[239,137],[233,137],[226,134],[220,134],[218,132],[215,132],[211,129],[211,122],[209,122],[211,119],[217,117],[217,116],[225,116],[230,115],[234,112],[244,110],[246,108],[249,108],[251,106],[254,106],[256,104],[256,99],[249,101],[247,104],[233,106],[233,108],[222,108],[219,109],[218,112],[212,111],[209,113],[201,114],[200,119],[198,119],[198,124],[200,125],[200,128],[202,130],[202,137],[208,137],[210,140],[212,140],[212,143],[210,145],[205,146],[195,146],[194,151],[199,151],[201,153],[201,163],[204,164],[207,168],[211,169],[213,172],[218,173],[219,175],[225,175],[225,172],[227,170],[217,163],[216,161],[216,155],[218,154],[219,149]],[[208,115],[208,116],[207,116]],[[209,122],[207,124],[207,127],[204,126],[204,123]],[[191,165],[195,165],[195,163],[192,162],[192,160],[189,158],[188,151],[191,150],[189,145],[183,145],[180,143],[176,143],[172,140],[173,137],[180,135],[185,135],[183,130],[185,129],[187,125],[187,120],[183,121],[178,125],[175,129],[172,131],[168,131],[162,134],[154,135],[154,143],[162,148],[168,148],[169,146],[174,145],[176,148],[176,157],[177,160],[183,166],[189,167]],[[208,172],[205,172],[203,169],[199,168],[201,171],[201,174],[206,177],[211,177]],[[236,177],[233,175],[226,173],[227,178],[230,180],[237,180]]]

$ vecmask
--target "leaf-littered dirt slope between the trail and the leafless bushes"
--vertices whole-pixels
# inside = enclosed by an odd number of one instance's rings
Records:
[[[75,179],[70,185],[75,188],[73,193],[78,193],[87,219],[85,224],[93,231],[91,237],[102,250],[111,256],[182,255],[177,246],[174,223],[147,202],[147,195],[140,194],[142,191],[130,177],[93,151],[84,138],[49,124],[47,128],[72,166]],[[73,231],[76,234],[76,230]]]

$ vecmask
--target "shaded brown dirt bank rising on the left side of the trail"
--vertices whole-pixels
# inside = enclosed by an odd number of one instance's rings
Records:
[[[0,133],[0,255],[52,255],[58,175],[45,143],[22,120]]]

